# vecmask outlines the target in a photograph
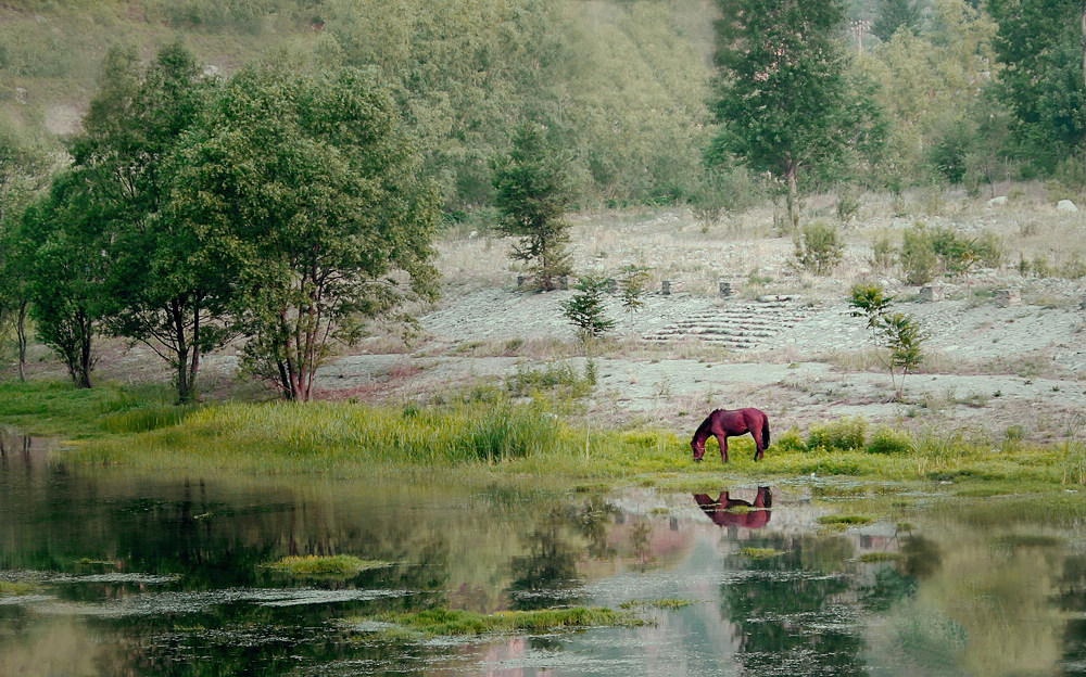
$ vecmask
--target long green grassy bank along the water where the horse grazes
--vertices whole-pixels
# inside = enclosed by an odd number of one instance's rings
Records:
[[[959,495],[1077,490],[1086,444],[993,440],[967,430],[870,431],[859,417],[779,435],[761,462],[748,438],[694,463],[685,436],[666,430],[585,431],[542,399],[495,396],[433,407],[349,403],[211,404],[179,408],[154,392],[106,385],[0,384],[0,425],[60,436],[66,462],[140,471],[261,475],[533,476],[571,486],[684,489],[707,477],[923,483]],[[571,422],[572,421],[572,422]],[[710,443],[711,444],[711,443]]]

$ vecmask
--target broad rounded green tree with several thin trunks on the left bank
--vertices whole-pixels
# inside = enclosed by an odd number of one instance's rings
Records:
[[[288,399],[364,322],[437,296],[439,196],[387,92],[279,56],[225,87],[179,157],[172,209],[236,289],[245,361]]]

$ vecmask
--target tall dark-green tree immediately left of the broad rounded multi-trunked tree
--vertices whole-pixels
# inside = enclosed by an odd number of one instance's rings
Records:
[[[162,48],[146,71],[131,50],[111,50],[73,144],[112,233],[105,325],[169,365],[180,401],[194,397],[201,356],[225,337],[223,269],[166,200],[173,154],[214,86],[201,72],[180,42]]]

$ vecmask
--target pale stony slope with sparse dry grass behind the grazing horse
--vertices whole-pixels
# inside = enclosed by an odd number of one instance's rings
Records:
[[[845,260],[824,279],[795,270],[791,240],[768,233],[765,214],[712,229],[681,213],[585,217],[574,235],[578,269],[636,264],[655,273],[640,310],[608,301],[617,325],[595,348],[593,416],[683,433],[714,408],[754,406],[776,431],[862,416],[872,424],[965,430],[995,444],[1011,426],[1038,440],[1086,434],[1086,286],[1022,277],[1012,266],[1035,255],[1015,248],[1027,244],[1023,230],[1051,232],[1037,247],[1084,246],[1083,219],[1036,204],[951,213],[929,222],[995,230],[1011,265],[940,280],[933,302],[868,263],[871,237],[911,226],[913,217],[876,213],[845,227]],[[451,385],[501,383],[518,370],[565,365],[582,373],[583,350],[561,311],[574,292],[518,288],[506,246],[478,233],[445,242],[445,299],[421,317],[413,349],[340,358],[321,376],[325,394],[426,398]],[[900,400],[863,320],[849,312],[857,280],[898,294],[894,309],[913,314],[930,336],[923,370],[908,376]],[[720,293],[721,281],[731,295]],[[1012,297],[997,298],[1000,290]]]

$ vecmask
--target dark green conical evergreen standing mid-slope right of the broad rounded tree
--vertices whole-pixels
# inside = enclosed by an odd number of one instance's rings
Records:
[[[564,217],[571,202],[566,158],[546,141],[545,129],[523,123],[508,155],[493,162],[494,206],[502,214],[500,230],[519,238],[509,256],[530,266],[541,290],[555,289],[570,271],[569,226]]]

